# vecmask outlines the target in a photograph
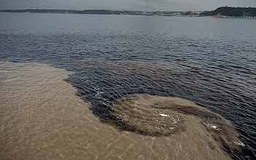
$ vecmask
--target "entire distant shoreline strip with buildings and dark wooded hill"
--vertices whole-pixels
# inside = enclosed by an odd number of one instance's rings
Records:
[[[146,16],[176,16],[176,17],[225,17],[225,18],[256,18],[256,8],[219,7],[213,11],[129,11],[108,9],[2,9],[0,12],[11,13],[53,13],[80,15],[146,15]]]

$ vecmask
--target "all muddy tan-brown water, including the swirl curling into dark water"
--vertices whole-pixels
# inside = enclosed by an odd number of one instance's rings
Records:
[[[68,84],[72,72],[0,63],[1,159],[232,159],[230,121],[178,97],[130,95],[100,121]],[[122,126],[124,125],[124,126]]]

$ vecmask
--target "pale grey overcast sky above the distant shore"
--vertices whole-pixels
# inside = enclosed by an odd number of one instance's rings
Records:
[[[0,9],[203,11],[222,6],[256,7],[256,0],[0,0]]]

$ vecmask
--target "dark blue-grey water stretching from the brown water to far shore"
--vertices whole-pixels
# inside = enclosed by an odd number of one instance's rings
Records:
[[[211,17],[0,14],[0,60],[74,71],[99,119],[133,94],[181,97],[236,125],[256,159],[256,21]]]

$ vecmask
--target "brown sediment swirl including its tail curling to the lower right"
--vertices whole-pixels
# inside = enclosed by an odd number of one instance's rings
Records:
[[[111,112],[120,129],[148,136],[186,133],[187,137],[205,141],[210,149],[221,147],[232,158],[233,153],[242,152],[244,145],[230,121],[178,97],[130,95],[116,101]],[[203,136],[195,135],[195,127]]]

